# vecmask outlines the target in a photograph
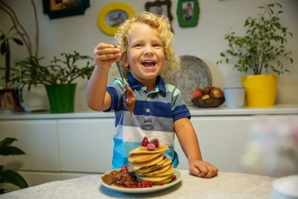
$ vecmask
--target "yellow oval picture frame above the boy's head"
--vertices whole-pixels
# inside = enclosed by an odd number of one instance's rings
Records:
[[[106,22],[106,16],[110,14],[113,11],[120,10],[122,12],[125,12],[128,16],[128,18],[134,16],[136,14],[134,8],[130,6],[127,3],[124,2],[114,2],[110,3],[102,8],[100,10],[98,16],[97,16],[97,24],[99,28],[108,35],[115,35],[118,26],[111,26]],[[121,14],[121,12],[120,12]]]

